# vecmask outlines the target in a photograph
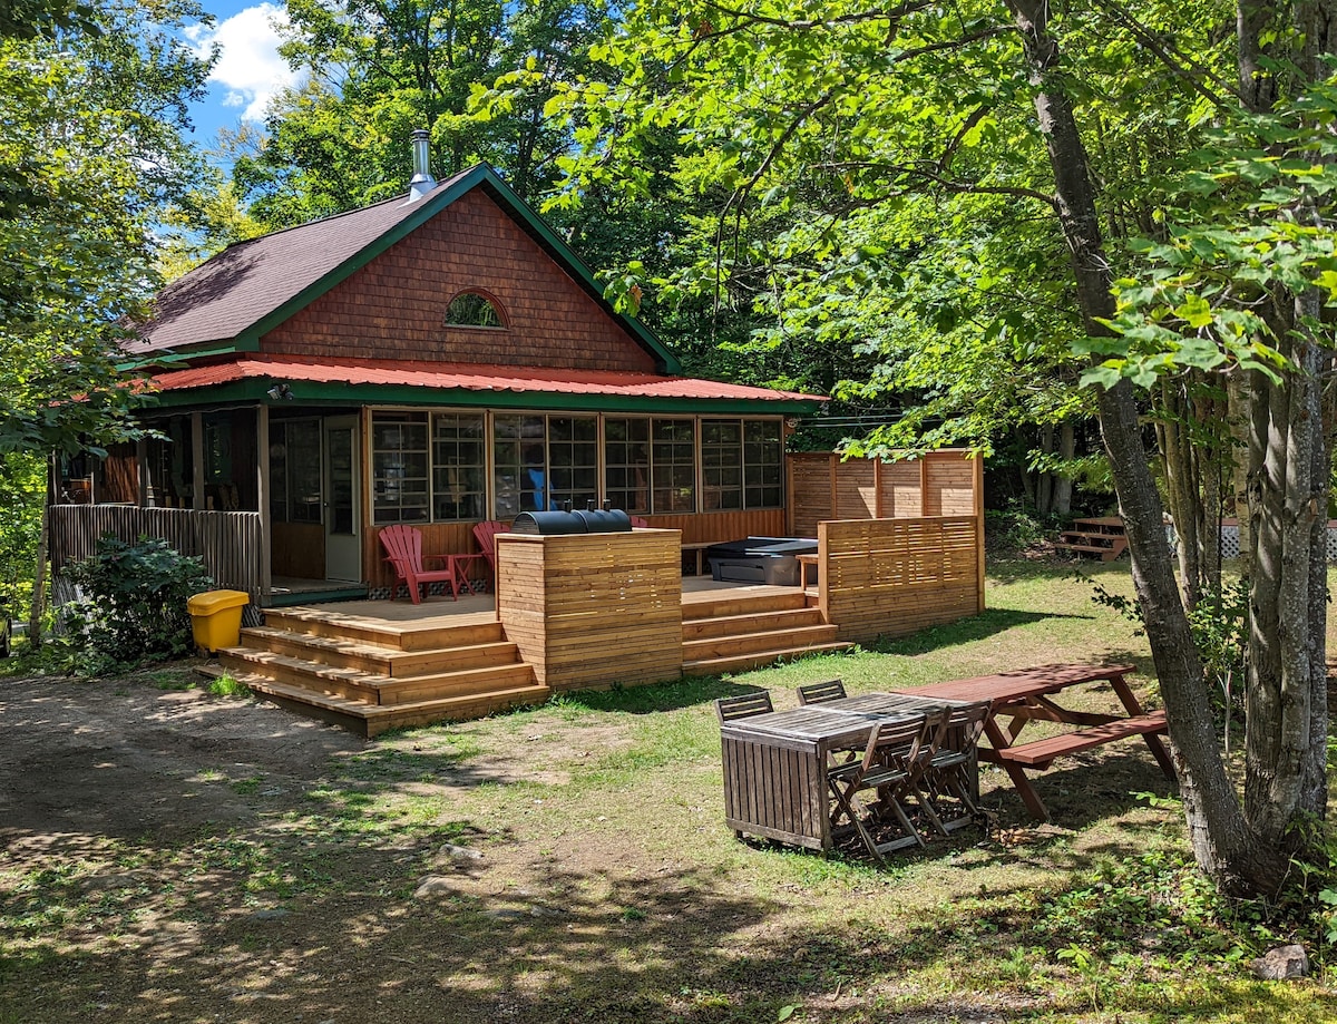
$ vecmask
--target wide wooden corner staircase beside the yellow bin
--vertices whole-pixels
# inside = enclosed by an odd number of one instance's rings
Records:
[[[218,652],[210,674],[226,671],[275,703],[365,737],[548,699],[500,623],[455,618],[386,623],[269,610],[265,626]]]

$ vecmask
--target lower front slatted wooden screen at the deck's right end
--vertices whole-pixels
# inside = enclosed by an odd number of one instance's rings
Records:
[[[979,516],[818,524],[822,618],[868,643],[984,610]]]

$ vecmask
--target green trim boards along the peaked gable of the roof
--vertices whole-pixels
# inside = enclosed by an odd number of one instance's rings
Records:
[[[664,348],[663,342],[635,317],[614,310],[612,303],[603,297],[603,289],[594,279],[594,273],[582,259],[563,242],[558,234],[543,222],[533,210],[525,205],[519,195],[511,191],[511,186],[501,180],[496,171],[484,164],[479,164],[456,179],[440,194],[433,194],[420,199],[421,210],[416,210],[405,217],[394,227],[382,234],[374,242],[364,247],[357,254],[349,257],[324,277],[308,285],[287,302],[253,324],[246,332],[237,337],[239,352],[255,352],[259,348],[259,338],[277,328],[279,324],[309,306],[317,298],[333,289],[353,273],[361,270],[378,255],[385,253],[392,245],[406,238],[424,223],[436,217],[441,210],[460,199],[465,193],[483,186],[488,194],[497,201],[504,210],[508,210],[516,222],[529,234],[537,245],[544,249],[559,263],[566,266],[576,282],[590,294],[599,306],[618,321],[642,348],[655,357],[655,365],[660,373],[682,373],[682,364]]]

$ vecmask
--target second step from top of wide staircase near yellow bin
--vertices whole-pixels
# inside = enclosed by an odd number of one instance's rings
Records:
[[[390,678],[483,668],[520,660],[516,646],[508,640],[469,643],[428,651],[401,651],[333,636],[289,632],[270,626],[242,630],[242,647],[286,654],[290,658],[321,662],[336,668],[360,668]]]

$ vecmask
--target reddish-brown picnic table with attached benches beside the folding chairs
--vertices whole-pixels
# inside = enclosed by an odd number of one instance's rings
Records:
[[[984,735],[989,738],[992,747],[981,746],[979,757],[981,761],[1001,765],[1031,815],[1048,821],[1050,811],[1027,778],[1025,769],[1044,770],[1056,758],[1067,754],[1140,735],[1166,778],[1175,777],[1174,763],[1165,743],[1161,742],[1161,734],[1166,731],[1165,711],[1147,714],[1142,710],[1142,705],[1123,678],[1131,671],[1134,671],[1131,664],[1042,664],[1035,668],[956,679],[893,692],[952,700],[988,700],[989,717],[984,722]],[[1054,699],[1068,687],[1100,682],[1114,688],[1127,711],[1126,715],[1074,711],[1062,707]],[[1000,717],[1011,719],[1005,727],[999,723]],[[1079,730],[1017,743],[1025,723],[1032,719],[1074,725]]]

